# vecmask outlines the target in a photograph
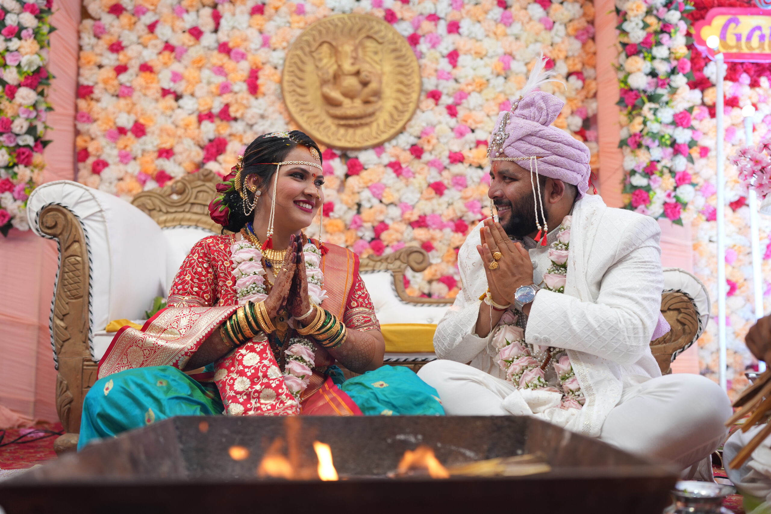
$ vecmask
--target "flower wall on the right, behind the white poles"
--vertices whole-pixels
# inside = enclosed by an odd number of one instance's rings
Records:
[[[713,322],[699,340],[702,374],[718,378],[715,62],[692,44],[692,22],[712,7],[749,7],[729,0],[618,0],[621,31],[621,147],[627,171],[626,207],[674,223],[691,223],[694,270],[708,287]],[[756,107],[753,144],[771,127],[771,66],[728,63],[725,82],[726,123],[726,277],[729,299],[728,363],[732,394],[746,386],[746,368],[756,365],[744,344],[755,322],[752,256],[746,186],[729,156],[746,145],[741,108]],[[771,277],[771,219],[761,217],[763,276]],[[763,280],[764,294],[771,292]]]

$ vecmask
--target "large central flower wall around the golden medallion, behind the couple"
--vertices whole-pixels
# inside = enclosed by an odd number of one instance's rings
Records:
[[[487,139],[540,52],[566,86],[553,89],[566,100],[554,125],[597,152],[594,7],[585,0],[84,5],[93,19],[80,28],[78,180],[126,199],[201,168],[223,175],[254,136],[299,128],[279,82],[289,45],[311,22],[357,12],[391,23],[419,59],[419,108],[383,146],[325,149],[325,239],[362,257],[423,247],[433,264],[406,279],[416,296],[457,294],[457,250],[489,216]]]

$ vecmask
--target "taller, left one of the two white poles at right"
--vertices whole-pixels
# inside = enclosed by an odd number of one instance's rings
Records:
[[[717,45],[715,45],[717,47]],[[723,55],[715,54],[717,65],[717,101],[715,111],[717,114],[717,180],[715,186],[718,190],[718,344],[719,344],[719,378],[720,387],[728,388],[726,376],[727,365],[727,339],[726,339],[726,156],[723,149],[726,139],[726,129],[723,126]]]

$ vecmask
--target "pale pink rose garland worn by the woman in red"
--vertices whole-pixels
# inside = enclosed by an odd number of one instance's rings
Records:
[[[308,296],[311,303],[318,305],[326,299],[326,291],[322,289],[324,274],[319,267],[322,253],[312,243],[305,244],[303,250]],[[268,290],[265,288],[265,270],[262,266],[261,250],[247,240],[237,241],[231,247],[231,260],[233,260],[233,277],[236,280],[238,304],[244,305],[247,301],[257,303],[267,298]],[[284,382],[295,398],[299,398],[302,391],[308,388],[315,365],[314,351],[313,343],[306,338],[291,338],[288,348],[284,351],[287,357]]]

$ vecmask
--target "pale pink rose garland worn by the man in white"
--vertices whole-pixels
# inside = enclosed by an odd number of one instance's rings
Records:
[[[564,293],[567,277],[567,253],[571,240],[571,216],[566,216],[560,225],[557,240],[551,244],[549,258],[551,267],[544,274],[545,289]],[[525,342],[524,330],[517,326],[519,317],[507,311],[501,317],[500,325],[493,336],[493,348],[498,352],[497,365],[506,373],[507,380],[520,389],[543,389],[562,393],[561,408],[582,408],[584,393],[573,371],[571,359],[561,348],[552,348],[551,364],[560,381],[561,390],[548,385],[544,374],[544,362],[548,348]]]

